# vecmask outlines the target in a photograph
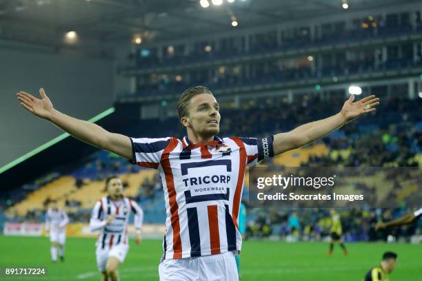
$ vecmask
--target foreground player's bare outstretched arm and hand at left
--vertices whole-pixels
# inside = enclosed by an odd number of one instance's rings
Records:
[[[52,122],[75,138],[101,149],[114,152],[128,160],[133,160],[132,143],[130,143],[130,139],[127,136],[110,133],[99,125],[82,121],[54,110],[46,92],[40,89],[39,94],[41,94],[41,99],[21,91],[17,93],[17,98],[26,110]]]

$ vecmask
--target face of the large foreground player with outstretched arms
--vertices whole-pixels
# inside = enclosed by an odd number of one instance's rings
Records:
[[[204,136],[215,136],[220,132],[219,103],[210,94],[197,94],[190,99],[189,115],[183,124],[195,133]],[[183,120],[182,120],[183,121]]]

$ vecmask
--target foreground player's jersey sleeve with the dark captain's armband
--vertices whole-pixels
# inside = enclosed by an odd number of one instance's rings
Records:
[[[274,156],[274,149],[272,147],[274,136],[239,139],[245,145],[246,155],[248,157],[247,165],[250,167],[257,165],[261,160]]]

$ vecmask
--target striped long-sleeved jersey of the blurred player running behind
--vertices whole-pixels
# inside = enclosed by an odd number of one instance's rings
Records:
[[[117,202],[111,200],[109,196],[101,198],[92,209],[90,220],[91,231],[100,231],[97,247],[110,249],[120,243],[128,244],[128,223],[131,213],[134,214],[134,226],[141,228],[143,211],[137,202],[125,197]],[[114,215],[115,218],[106,225],[110,215]]]

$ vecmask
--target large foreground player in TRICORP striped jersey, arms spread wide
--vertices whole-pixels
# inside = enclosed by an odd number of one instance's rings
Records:
[[[219,103],[207,87],[185,90],[177,114],[182,139],[128,138],[54,109],[26,92],[26,110],[81,141],[109,150],[142,167],[158,169],[163,182],[166,232],[160,280],[238,280],[234,255],[241,250],[238,216],[245,167],[322,138],[359,116],[374,112],[379,98],[345,101],[337,114],[266,138],[219,138]],[[145,128],[148,132],[148,128]]]

